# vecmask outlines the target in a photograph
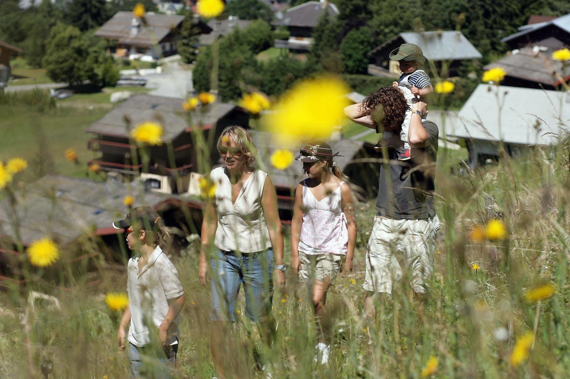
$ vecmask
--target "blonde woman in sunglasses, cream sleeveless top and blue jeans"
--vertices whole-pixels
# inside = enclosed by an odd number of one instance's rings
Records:
[[[283,235],[277,195],[271,179],[253,167],[255,146],[239,126],[228,126],[218,139],[224,167],[214,168],[210,179],[215,198],[207,203],[202,223],[200,282],[207,282],[207,259],[211,273],[211,353],[219,378],[235,356],[231,323],[235,302],[243,285],[246,313],[259,329],[266,347],[275,331],[271,316],[272,277],[285,284]]]

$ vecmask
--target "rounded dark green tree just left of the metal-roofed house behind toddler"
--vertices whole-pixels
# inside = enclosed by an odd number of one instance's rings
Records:
[[[369,27],[353,29],[340,43],[340,63],[345,73],[367,73],[367,53],[374,47],[374,38]]]

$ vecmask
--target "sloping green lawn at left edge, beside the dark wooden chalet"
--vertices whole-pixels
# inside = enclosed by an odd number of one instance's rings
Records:
[[[37,168],[34,162],[51,161],[59,174],[83,175],[86,160],[92,158],[85,130],[107,112],[99,107],[66,106],[40,113],[31,107],[1,105],[0,160],[18,156],[28,160],[31,168]],[[70,148],[77,152],[80,166],[67,162],[64,152]],[[34,171],[28,175],[33,176]]]

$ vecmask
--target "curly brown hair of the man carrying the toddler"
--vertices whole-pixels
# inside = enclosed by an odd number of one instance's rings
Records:
[[[410,109],[404,93],[397,87],[380,88],[370,93],[361,105],[376,125],[381,123],[386,130],[400,129],[406,111]]]

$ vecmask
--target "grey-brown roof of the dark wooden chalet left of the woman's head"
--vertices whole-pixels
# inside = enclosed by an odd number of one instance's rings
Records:
[[[182,102],[183,100],[172,97],[146,94],[131,96],[105,116],[89,125],[87,132],[129,138],[129,129],[125,117],[131,121],[132,127],[145,121],[154,120],[160,122],[164,128],[162,141],[168,143],[189,126],[186,116],[182,113]],[[202,116],[203,125],[214,124],[235,108],[237,108],[235,105],[223,102],[211,104],[210,110]]]

